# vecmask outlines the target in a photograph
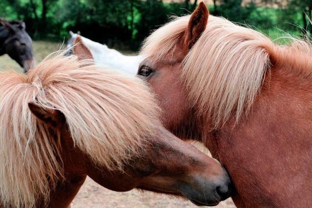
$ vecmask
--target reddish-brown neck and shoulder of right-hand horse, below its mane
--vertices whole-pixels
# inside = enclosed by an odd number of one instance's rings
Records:
[[[237,206],[311,203],[311,83],[311,76],[291,67],[273,66],[248,117],[235,126],[230,120],[211,139],[210,150],[237,189]]]

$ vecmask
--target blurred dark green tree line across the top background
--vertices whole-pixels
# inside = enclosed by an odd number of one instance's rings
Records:
[[[312,0],[212,2],[209,5],[212,14],[252,25],[272,38],[280,36],[274,27],[293,35],[312,33],[309,24]],[[197,3],[197,0],[1,0],[0,16],[24,20],[34,39],[59,40],[72,30],[109,46],[136,50],[171,15],[190,14]]]

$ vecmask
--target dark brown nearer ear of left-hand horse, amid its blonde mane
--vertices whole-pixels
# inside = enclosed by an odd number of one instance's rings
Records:
[[[64,114],[59,110],[45,108],[35,102],[29,102],[28,107],[39,120],[53,128],[60,128],[66,123]]]

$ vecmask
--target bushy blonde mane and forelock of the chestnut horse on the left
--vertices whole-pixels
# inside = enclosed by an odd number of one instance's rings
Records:
[[[158,125],[158,107],[136,77],[76,57],[50,57],[27,75],[0,72],[0,204],[36,206],[62,180],[59,140],[28,102],[58,109],[71,137],[98,166],[122,170]],[[62,139],[59,137],[59,139]]]

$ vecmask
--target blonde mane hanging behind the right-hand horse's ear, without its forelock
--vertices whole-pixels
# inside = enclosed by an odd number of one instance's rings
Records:
[[[271,67],[273,42],[250,28],[210,16],[207,27],[183,60],[190,100],[214,128],[234,115],[247,115]]]

